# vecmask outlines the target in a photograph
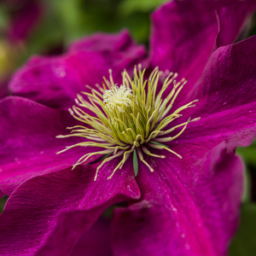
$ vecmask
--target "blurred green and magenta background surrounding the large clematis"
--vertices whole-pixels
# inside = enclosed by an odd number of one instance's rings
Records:
[[[148,47],[150,13],[164,0],[0,0],[0,99],[8,95],[12,73],[30,55],[59,55],[76,38],[126,27],[137,43]],[[252,15],[239,40],[256,34]],[[256,255],[256,141],[238,148],[246,163],[241,226],[230,256]],[[0,200],[3,211],[5,196]],[[110,218],[112,209],[104,212]]]

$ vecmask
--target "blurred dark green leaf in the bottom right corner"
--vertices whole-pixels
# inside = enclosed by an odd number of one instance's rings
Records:
[[[256,252],[256,204],[241,207],[241,225],[230,246],[229,256],[254,256]]]

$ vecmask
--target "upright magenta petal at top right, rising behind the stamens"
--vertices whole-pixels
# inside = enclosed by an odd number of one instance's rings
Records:
[[[255,8],[252,1],[172,1],[153,16],[151,65],[170,70],[188,79],[178,102],[196,85],[212,51],[232,44],[247,15]]]

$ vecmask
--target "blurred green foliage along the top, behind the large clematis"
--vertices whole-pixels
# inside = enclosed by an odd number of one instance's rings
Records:
[[[138,43],[148,44],[149,14],[163,2],[47,0],[44,2],[44,17],[28,40],[25,58],[33,53],[44,54],[50,47],[67,46],[74,39],[94,32],[119,32],[124,27]]]

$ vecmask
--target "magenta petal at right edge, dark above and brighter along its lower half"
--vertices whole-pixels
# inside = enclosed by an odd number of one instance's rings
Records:
[[[217,49],[202,75],[197,106],[180,140],[247,146],[256,135],[256,37]]]

